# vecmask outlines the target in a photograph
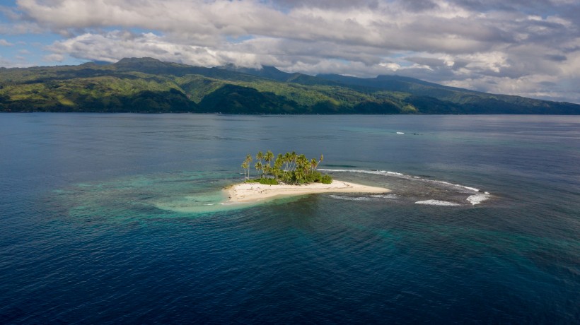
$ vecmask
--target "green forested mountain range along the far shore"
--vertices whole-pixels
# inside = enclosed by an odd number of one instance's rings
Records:
[[[0,69],[4,112],[580,114],[580,105],[490,95],[413,78],[306,76],[151,58]]]

